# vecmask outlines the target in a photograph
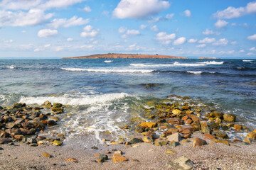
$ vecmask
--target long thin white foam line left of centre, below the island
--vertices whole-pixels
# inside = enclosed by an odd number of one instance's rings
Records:
[[[61,68],[71,72],[105,72],[105,73],[150,73],[154,69],[80,69],[80,68]]]

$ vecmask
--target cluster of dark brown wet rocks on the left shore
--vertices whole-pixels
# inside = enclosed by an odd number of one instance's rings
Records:
[[[0,106],[0,144],[26,142],[31,147],[50,143],[60,146],[63,134],[55,138],[38,135],[46,128],[57,125],[59,118],[55,115],[63,113],[63,105],[46,101],[41,107],[26,106],[26,103],[16,103],[11,107]]]

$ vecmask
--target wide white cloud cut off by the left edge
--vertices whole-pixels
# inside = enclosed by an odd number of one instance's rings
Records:
[[[53,13],[44,13],[40,9],[31,9],[28,13],[19,11],[0,11],[0,27],[2,26],[36,26],[48,21]]]

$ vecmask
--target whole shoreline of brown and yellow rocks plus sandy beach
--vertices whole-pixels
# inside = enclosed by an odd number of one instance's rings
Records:
[[[175,102],[174,102],[175,98]],[[176,102],[178,100],[178,102]],[[193,101],[193,100],[192,100]],[[187,96],[171,95],[146,103],[142,117],[123,130],[134,137],[105,147],[75,148],[65,133],[41,135],[58,125],[61,103],[40,107],[16,103],[0,107],[1,169],[255,169],[256,130],[235,122],[236,116],[196,106]],[[245,132],[230,140],[226,131]],[[11,155],[11,156],[8,156]],[[164,156],[164,157],[163,157]]]

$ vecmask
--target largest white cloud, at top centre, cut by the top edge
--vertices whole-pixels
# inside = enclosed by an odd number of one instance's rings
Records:
[[[121,0],[114,8],[116,18],[145,19],[169,8],[169,1],[161,0]]]

